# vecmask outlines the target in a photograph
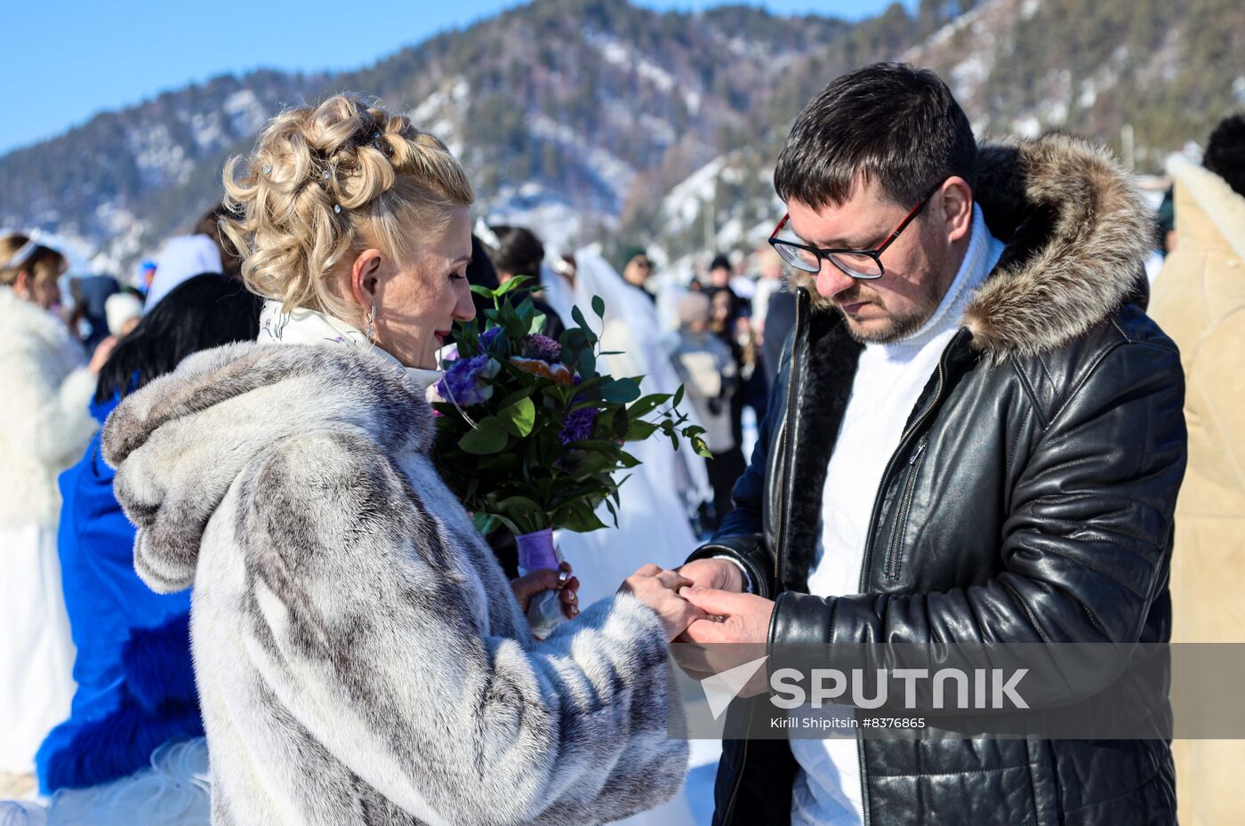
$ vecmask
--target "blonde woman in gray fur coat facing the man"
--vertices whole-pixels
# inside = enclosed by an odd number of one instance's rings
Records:
[[[537,642],[430,462],[428,368],[472,317],[457,160],[336,96],[235,167],[260,342],[187,360],[103,437],[139,575],[194,586],[212,822],[588,826],[670,797],[687,581],[646,566]]]

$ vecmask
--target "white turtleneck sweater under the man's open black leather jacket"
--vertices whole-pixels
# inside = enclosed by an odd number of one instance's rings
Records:
[[[834,443],[822,500],[822,537],[808,591],[818,596],[857,593],[869,516],[886,462],[899,447],[913,408],[960,328],[965,307],[998,261],[1003,245],[972,208],[969,250],[929,321],[889,345],[867,345]],[[852,709],[842,715],[850,718]],[[850,730],[850,729],[844,729]],[[854,739],[794,739],[799,761],[792,801],[793,826],[862,822],[860,768]]]

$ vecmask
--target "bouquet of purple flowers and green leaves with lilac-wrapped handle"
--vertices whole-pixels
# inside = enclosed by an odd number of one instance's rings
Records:
[[[472,511],[476,526],[489,534],[499,525],[514,532],[519,567],[558,567],[553,530],[586,532],[605,527],[601,504],[618,524],[615,474],[640,462],[624,447],[654,435],[682,439],[700,455],[710,452],[705,429],[679,412],[675,393],[641,396],[642,377],[603,374],[596,333],[579,307],[573,327],[554,341],[544,335],[545,317],[527,296],[528,277],[514,277],[496,290],[473,286],[493,309],[484,320],[454,326],[457,355],[428,389],[437,415],[433,460],[446,484]],[[507,297],[509,294],[509,297]],[[593,299],[593,312],[605,304]],[[545,592],[528,611],[533,629],[560,618],[557,595]],[[538,632],[537,636],[543,636]]]

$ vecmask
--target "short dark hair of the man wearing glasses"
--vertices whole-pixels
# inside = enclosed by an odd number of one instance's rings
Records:
[[[842,204],[858,175],[905,208],[951,175],[976,188],[977,142],[942,78],[874,63],[834,80],[804,107],[778,155],[778,197],[813,209]]]

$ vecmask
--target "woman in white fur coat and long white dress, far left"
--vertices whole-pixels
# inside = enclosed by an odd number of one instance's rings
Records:
[[[66,261],[0,238],[0,796],[32,786],[35,751],[68,715],[73,643],[56,556],[56,476],[82,455],[108,345],[86,363],[56,316]]]

